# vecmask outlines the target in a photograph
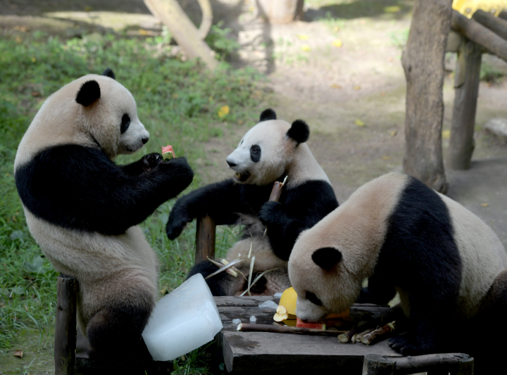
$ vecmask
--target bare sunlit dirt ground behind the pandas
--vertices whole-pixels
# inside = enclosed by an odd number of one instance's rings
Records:
[[[232,63],[253,66],[268,77],[272,92],[265,94],[262,106],[273,108],[281,119],[301,118],[310,125],[308,145],[330,177],[340,203],[370,179],[401,171],[406,88],[400,58],[410,27],[411,1],[311,0],[305,4],[305,20],[289,25],[265,23],[253,0],[211,3],[213,22],[223,21],[223,26],[232,29],[230,37],[242,45]],[[180,4],[199,23],[196,1],[180,0]],[[160,23],[142,0],[0,0],[0,30],[15,27],[67,37],[107,29],[133,35],[139,35],[139,30],[161,32]],[[342,46],[334,45],[339,44],[337,39]],[[445,131],[451,124],[454,60],[455,56],[446,56],[444,155],[449,144]],[[493,56],[484,56],[483,61],[507,71],[507,64]],[[507,82],[481,82],[472,167],[446,170],[448,195],[482,217],[505,246],[507,145],[482,127],[493,117],[507,117],[506,103]],[[205,145],[208,162],[196,161],[205,181],[230,175],[225,157],[252,125],[227,125],[225,136]],[[30,357],[26,364],[18,362],[16,366],[26,369]],[[2,366],[0,374],[6,371]]]

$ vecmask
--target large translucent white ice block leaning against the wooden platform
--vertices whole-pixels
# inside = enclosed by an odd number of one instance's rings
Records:
[[[142,336],[154,360],[170,361],[213,340],[222,327],[206,281],[195,274],[158,301]]]

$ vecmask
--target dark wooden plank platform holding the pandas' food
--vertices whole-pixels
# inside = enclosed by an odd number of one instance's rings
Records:
[[[361,374],[365,355],[401,357],[387,341],[373,345],[340,343],[336,337],[303,336],[287,333],[238,332],[232,319],[248,323],[251,315],[257,324],[273,324],[274,309],[258,307],[280,299],[273,297],[215,297],[223,329],[213,344],[213,373],[269,374],[276,371],[318,370]],[[353,305],[353,322],[382,318],[392,309],[377,305]],[[387,322],[386,322],[387,323]]]

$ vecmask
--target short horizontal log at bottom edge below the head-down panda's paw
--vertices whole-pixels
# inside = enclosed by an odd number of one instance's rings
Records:
[[[463,353],[428,354],[416,357],[395,358],[396,375],[414,374],[415,372],[426,372],[430,374],[451,374],[472,375],[466,372],[473,371],[473,358]],[[459,372],[461,371],[461,372]],[[463,372],[465,371],[465,372]]]

